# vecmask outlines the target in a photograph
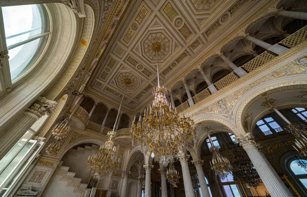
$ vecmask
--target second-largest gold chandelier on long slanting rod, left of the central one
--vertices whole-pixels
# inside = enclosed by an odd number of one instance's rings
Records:
[[[117,147],[114,145],[114,139],[116,136],[115,128],[117,125],[121,105],[125,96],[126,88],[127,85],[131,84],[131,80],[125,78],[123,79],[123,84],[125,84],[125,90],[120,102],[113,130],[107,133],[109,136],[108,140],[104,143],[104,145],[100,146],[98,152],[91,157],[89,156],[89,159],[87,160],[87,166],[92,169],[93,176],[97,179],[101,179],[108,176],[109,174],[112,174],[112,171],[120,166],[121,158],[117,157]]]

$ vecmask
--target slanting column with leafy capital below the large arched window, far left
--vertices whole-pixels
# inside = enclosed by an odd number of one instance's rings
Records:
[[[0,160],[12,149],[30,127],[43,115],[52,113],[55,101],[45,97],[38,99],[23,114],[16,118],[9,127],[0,133]]]

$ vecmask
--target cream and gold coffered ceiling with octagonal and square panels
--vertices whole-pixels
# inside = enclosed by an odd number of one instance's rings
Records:
[[[271,5],[275,1],[131,1],[86,92],[116,106],[123,94],[123,79],[128,76],[133,83],[127,88],[124,108],[141,111],[152,100],[152,90],[157,85],[153,43],[161,44],[160,83],[170,89],[193,68],[200,68],[208,57],[220,53],[226,44],[225,36],[235,37],[248,25],[246,21],[254,20],[259,9],[270,6],[263,2]],[[208,69],[211,63],[225,66],[218,60],[210,61]]]

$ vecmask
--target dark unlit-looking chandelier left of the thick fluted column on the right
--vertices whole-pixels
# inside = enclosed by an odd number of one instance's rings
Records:
[[[242,181],[249,187],[258,187],[261,179],[253,163],[244,150],[238,148],[239,143],[232,142],[233,162],[232,175],[234,181]]]

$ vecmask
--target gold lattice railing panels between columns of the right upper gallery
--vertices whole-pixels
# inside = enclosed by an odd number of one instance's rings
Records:
[[[288,48],[293,48],[297,44],[304,42],[306,40],[307,40],[307,26],[298,30],[297,32],[295,32],[291,36],[281,40],[280,42],[278,42],[278,44],[286,46]],[[275,55],[266,51],[266,52],[260,54],[259,56],[257,56],[256,58],[252,59],[251,61],[247,62],[246,64],[244,64],[242,66],[242,68],[245,69],[247,72],[252,72],[256,68],[261,67],[261,66],[267,64],[268,62],[272,61],[275,57],[276,57]],[[235,82],[237,79],[238,79],[238,77],[235,75],[235,73],[231,72],[229,75],[225,76],[220,81],[215,82],[214,86],[217,90],[221,90],[224,87],[226,87],[226,86],[232,84],[233,82]],[[195,104],[199,103],[200,101],[204,100],[206,97],[208,97],[210,95],[211,95],[210,91],[206,88],[203,91],[201,91],[200,93],[193,96],[194,103]],[[177,109],[177,112],[180,113],[180,112],[183,112],[184,110],[188,109],[189,107],[190,106],[189,106],[188,102],[186,101],[183,104],[181,104],[180,106],[176,107],[176,109]]]

